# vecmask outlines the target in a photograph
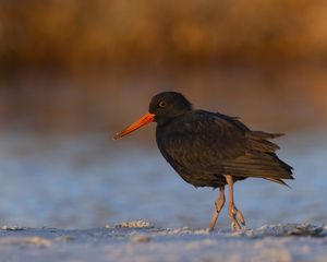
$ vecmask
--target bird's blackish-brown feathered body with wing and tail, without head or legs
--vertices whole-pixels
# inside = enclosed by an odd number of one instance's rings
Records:
[[[226,184],[222,175],[279,183],[292,179],[292,168],[277,157],[279,147],[268,141],[279,135],[251,131],[237,118],[204,110],[170,119],[156,132],[164,157],[186,182],[214,188]]]

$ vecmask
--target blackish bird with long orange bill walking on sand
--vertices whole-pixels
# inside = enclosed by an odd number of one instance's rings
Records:
[[[245,226],[245,219],[234,204],[234,182],[252,177],[288,186],[284,180],[294,179],[293,168],[276,155],[279,146],[269,141],[282,133],[252,131],[237,117],[193,109],[178,92],[155,95],[148,112],[113,139],[121,139],[150,122],[157,123],[159,151],[184,181],[195,188],[219,189],[209,230],[214,230],[225,205],[225,187],[229,190],[231,229],[239,230]]]

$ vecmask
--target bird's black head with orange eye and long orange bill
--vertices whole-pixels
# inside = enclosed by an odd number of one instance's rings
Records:
[[[192,110],[192,105],[182,94],[177,92],[159,93],[153,97],[148,112],[123,131],[117,133],[113,139],[120,139],[149,122],[162,124],[190,110]]]

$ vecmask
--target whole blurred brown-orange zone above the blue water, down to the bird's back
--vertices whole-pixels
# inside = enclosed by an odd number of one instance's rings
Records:
[[[120,129],[162,90],[280,131],[327,122],[326,17],[326,0],[0,0],[0,124]]]

